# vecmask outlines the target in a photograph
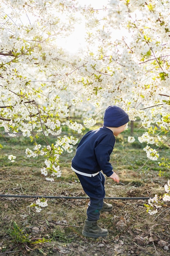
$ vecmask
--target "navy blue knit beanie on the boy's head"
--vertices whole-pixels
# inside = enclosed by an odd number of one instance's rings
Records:
[[[119,127],[128,123],[128,114],[117,106],[109,106],[104,113],[104,126]]]

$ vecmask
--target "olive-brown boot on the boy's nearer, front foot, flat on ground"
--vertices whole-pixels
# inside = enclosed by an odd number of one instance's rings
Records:
[[[99,236],[108,236],[107,229],[102,229],[97,226],[97,221],[88,221],[86,220],[84,223],[84,228],[82,231],[83,236],[94,237],[97,238]]]

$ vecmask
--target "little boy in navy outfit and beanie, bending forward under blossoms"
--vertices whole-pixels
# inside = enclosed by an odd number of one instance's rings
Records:
[[[93,238],[108,236],[108,230],[97,225],[100,211],[113,209],[112,204],[104,202],[105,177],[103,173],[119,182],[119,177],[113,172],[109,160],[115,145],[115,136],[124,131],[128,121],[128,114],[123,109],[118,106],[109,106],[104,113],[104,126],[88,131],[77,146],[71,168],[90,198],[87,220],[82,231],[83,236]]]

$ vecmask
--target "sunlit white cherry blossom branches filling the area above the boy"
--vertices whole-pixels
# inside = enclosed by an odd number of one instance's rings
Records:
[[[141,120],[146,132],[139,142],[147,142],[149,159],[158,159],[151,145],[165,143],[170,130],[169,11],[166,0],[110,0],[102,8],[80,0],[0,4],[0,127],[31,138],[35,147],[26,155],[46,155],[41,172],[47,180],[61,175],[60,154],[77,143],[62,136],[62,126],[81,133],[73,115],[89,128],[113,104]],[[85,43],[71,54],[59,42],[77,23],[85,24]],[[40,133],[44,147],[37,143]],[[56,136],[55,144],[48,135]]]

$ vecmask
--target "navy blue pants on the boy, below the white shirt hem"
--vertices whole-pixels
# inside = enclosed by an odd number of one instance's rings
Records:
[[[99,220],[100,210],[103,207],[103,200],[105,197],[104,182],[105,177],[103,173],[99,172],[94,177],[87,177],[76,173],[84,192],[89,196],[90,202],[87,208],[87,220]]]

